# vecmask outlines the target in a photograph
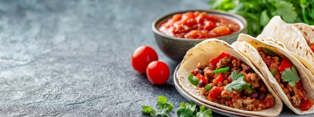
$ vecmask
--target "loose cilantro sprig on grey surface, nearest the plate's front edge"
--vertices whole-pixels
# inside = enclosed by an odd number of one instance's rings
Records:
[[[200,106],[200,111],[197,112],[196,104],[190,100],[190,103],[182,102],[179,109],[177,110],[178,117],[212,117],[211,109],[205,108],[204,105]]]

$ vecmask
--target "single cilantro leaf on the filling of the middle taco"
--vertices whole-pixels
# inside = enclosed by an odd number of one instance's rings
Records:
[[[283,72],[282,77],[284,81],[288,81],[289,85],[291,87],[296,86],[296,82],[299,82],[300,78],[298,76],[298,73],[296,72],[295,66],[292,66],[292,69],[286,68],[286,70]]]

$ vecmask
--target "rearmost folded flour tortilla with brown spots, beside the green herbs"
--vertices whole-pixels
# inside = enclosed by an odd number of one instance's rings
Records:
[[[264,27],[262,35],[274,37],[282,42],[285,45],[284,48],[292,52],[290,54],[299,59],[314,75],[314,53],[298,28],[281,20],[279,16],[275,16]],[[261,36],[257,38],[260,39]],[[314,84],[314,81],[311,83]]]

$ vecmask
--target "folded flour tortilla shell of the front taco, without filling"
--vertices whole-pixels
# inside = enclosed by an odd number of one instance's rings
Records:
[[[211,102],[206,97],[199,95],[199,90],[197,86],[191,84],[187,78],[190,75],[190,71],[194,70],[199,62],[208,63],[209,59],[215,58],[219,56],[221,53],[228,53],[231,56],[234,56],[237,59],[240,59],[243,63],[252,67],[252,69],[262,78],[265,82],[265,85],[268,91],[274,97],[274,106],[271,109],[265,109],[262,111],[243,111],[240,109],[231,108],[225,104],[220,104],[217,102]],[[262,74],[257,70],[256,67],[252,64],[252,62],[241,55],[234,47],[230,46],[227,42],[218,39],[207,39],[197,44],[195,47],[189,49],[184,56],[181,67],[177,72],[177,78],[179,79],[180,85],[183,89],[188,92],[194,98],[197,98],[205,103],[208,103],[212,106],[216,106],[225,110],[234,111],[237,113],[255,115],[255,116],[278,116],[283,108],[283,103],[280,98],[276,95],[274,90],[267,83],[266,79],[262,76]]]

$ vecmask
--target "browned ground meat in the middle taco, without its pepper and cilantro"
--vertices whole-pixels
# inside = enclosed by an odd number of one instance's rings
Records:
[[[263,61],[267,65],[269,71],[274,71],[274,78],[276,78],[277,82],[279,83],[279,86],[283,89],[284,93],[288,97],[289,101],[293,106],[300,107],[301,102],[303,100],[310,100],[313,102],[311,98],[306,98],[306,91],[303,89],[303,87],[297,88],[296,86],[291,87],[288,82],[283,81],[282,72],[279,71],[279,66],[282,61],[281,58],[272,56],[266,52],[263,51],[262,47],[258,48],[258,52],[260,56],[262,57]]]

